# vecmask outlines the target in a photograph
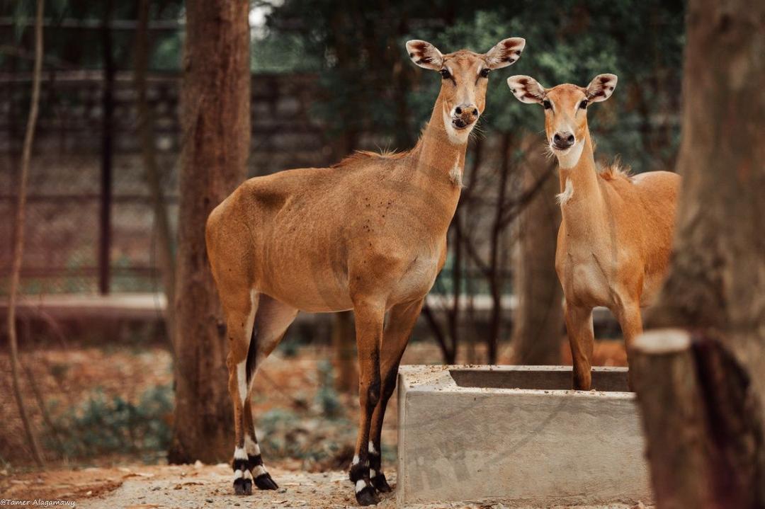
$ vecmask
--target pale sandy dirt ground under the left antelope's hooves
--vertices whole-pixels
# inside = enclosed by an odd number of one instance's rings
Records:
[[[289,468],[269,468],[279,485],[277,491],[254,490],[239,497],[231,491],[229,465],[164,465],[120,468],[85,468],[78,471],[28,473],[0,479],[2,498],[34,502],[57,501],[64,507],[82,509],[226,509],[258,507],[280,509],[350,509],[357,507],[347,473],[340,471],[309,473]],[[391,475],[396,481],[396,475]],[[72,505],[74,504],[74,505]],[[32,504],[16,507],[35,507]],[[38,506],[39,507],[39,504]],[[44,506],[43,506],[44,507]],[[379,509],[394,509],[394,493],[383,494]],[[408,509],[504,509],[503,504],[433,504],[407,506]],[[638,504],[590,506],[576,509],[649,509]],[[556,509],[562,509],[558,507]]]

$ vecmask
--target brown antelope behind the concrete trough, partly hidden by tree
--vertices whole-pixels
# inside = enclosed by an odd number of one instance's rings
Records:
[[[592,309],[606,306],[614,313],[629,352],[643,332],[640,308],[656,297],[669,262],[680,177],[667,171],[630,176],[617,164],[596,167],[587,107],[610,97],[614,74],[595,76],[587,88],[545,89],[529,76],[507,83],[521,102],[544,106],[547,141],[558,157],[563,220],[555,271],[565,297],[574,388],[588,391]]]

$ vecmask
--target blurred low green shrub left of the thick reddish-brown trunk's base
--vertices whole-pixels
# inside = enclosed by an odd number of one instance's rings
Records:
[[[170,385],[151,387],[137,404],[122,397],[108,397],[96,389],[76,407],[59,410],[60,402],[50,401],[49,411],[63,431],[61,441],[46,439],[47,449],[63,457],[97,456],[105,453],[141,454],[148,462],[168,448],[171,428],[167,417],[173,410]]]

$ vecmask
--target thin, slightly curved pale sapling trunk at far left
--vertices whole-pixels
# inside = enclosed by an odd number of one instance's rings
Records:
[[[29,118],[27,119],[27,131],[24,133],[24,147],[21,149],[21,174],[18,177],[18,204],[16,218],[13,225],[13,259],[11,260],[11,281],[8,289],[8,346],[11,350],[11,380],[13,382],[13,394],[24,425],[24,433],[27,434],[29,448],[31,449],[34,462],[37,466],[43,466],[43,454],[37,443],[37,436],[32,429],[24,397],[21,396],[21,382],[19,375],[20,362],[18,360],[18,337],[16,334],[16,296],[18,294],[18,280],[21,277],[21,259],[24,254],[24,211],[27,204],[27,183],[29,180],[29,163],[32,154],[32,142],[34,141],[34,128],[37,125],[37,111],[40,105],[40,78],[43,67],[43,0],[37,0],[37,14],[34,18],[34,71],[32,74],[32,99],[29,105]]]

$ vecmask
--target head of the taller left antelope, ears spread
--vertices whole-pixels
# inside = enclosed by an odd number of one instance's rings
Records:
[[[425,41],[406,43],[412,62],[441,74],[438,98],[443,109],[444,128],[452,143],[465,143],[483,113],[489,73],[516,63],[525,46],[525,39],[511,37],[486,53],[459,50],[444,55]]]

